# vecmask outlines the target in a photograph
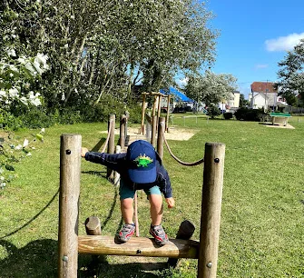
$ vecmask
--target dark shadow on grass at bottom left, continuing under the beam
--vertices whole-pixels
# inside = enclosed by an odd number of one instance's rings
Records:
[[[57,277],[57,241],[37,240],[20,249],[5,240],[0,240],[0,245],[7,251],[7,258],[0,261],[0,277]],[[109,264],[106,259],[97,262],[92,259],[92,255],[84,254],[80,254],[78,258],[78,277],[158,277],[143,269],[163,269],[163,263]]]

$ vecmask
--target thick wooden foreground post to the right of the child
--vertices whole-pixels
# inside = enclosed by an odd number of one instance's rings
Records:
[[[198,278],[216,277],[220,239],[224,157],[225,144],[205,144]]]

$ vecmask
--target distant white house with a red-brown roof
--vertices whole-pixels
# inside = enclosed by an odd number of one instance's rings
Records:
[[[274,83],[253,82],[250,87],[249,101],[252,109],[276,110],[278,107],[287,106],[285,99],[278,95]]]

